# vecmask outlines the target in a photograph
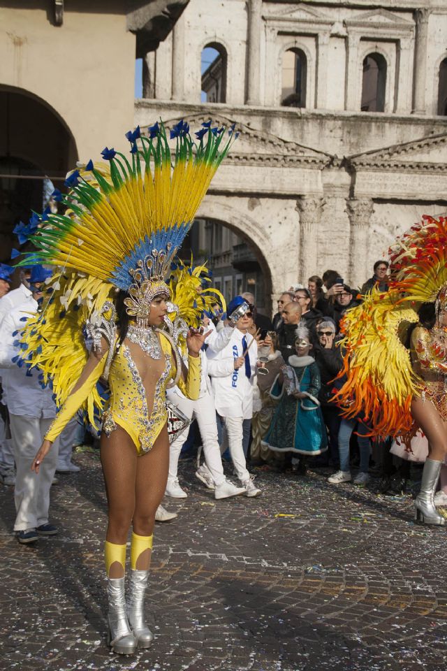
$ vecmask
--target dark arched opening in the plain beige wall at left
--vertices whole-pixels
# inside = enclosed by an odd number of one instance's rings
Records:
[[[64,120],[24,89],[0,85],[0,128],[0,261],[8,261],[15,224],[42,211],[47,178],[63,187],[78,151]]]

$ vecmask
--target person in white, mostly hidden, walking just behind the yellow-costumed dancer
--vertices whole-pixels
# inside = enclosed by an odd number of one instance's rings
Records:
[[[204,320],[205,332],[210,331],[205,339],[205,344],[210,352],[219,352],[226,347],[233,335],[233,326],[225,326],[219,333],[210,319]],[[216,408],[211,394],[210,378],[207,375],[207,356],[205,351],[200,352],[200,396],[197,401],[186,398],[178,387],[169,389],[168,401],[177,407],[188,419],[197,419],[200,436],[203,442],[203,453],[205,455],[206,470],[202,466],[196,472],[198,479],[204,482],[210,489],[214,489],[214,498],[230,498],[245,493],[244,487],[236,487],[226,479],[223,473],[221,451],[217,438]],[[166,495],[174,498],[185,498],[186,491],[179,485],[177,468],[179,455],[186,440],[188,426],[175,436],[169,448],[169,475],[166,485]]]

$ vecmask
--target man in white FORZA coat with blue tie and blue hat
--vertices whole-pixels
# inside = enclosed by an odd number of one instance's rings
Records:
[[[228,305],[228,314],[246,303],[236,296]],[[208,373],[211,377],[214,404],[223,419],[228,436],[230,456],[237,477],[246,496],[258,496],[258,489],[250,477],[243,449],[243,422],[253,416],[253,391],[256,376],[258,345],[249,334],[252,324],[250,312],[238,319],[230,341],[219,352],[207,352]]]

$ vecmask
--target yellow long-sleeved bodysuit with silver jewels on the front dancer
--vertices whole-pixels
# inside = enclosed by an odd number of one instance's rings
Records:
[[[176,373],[172,345],[163,333],[160,333],[160,341],[159,360],[149,359],[138,345],[126,339],[121,346],[115,346],[115,354],[110,365],[108,376],[110,399],[103,414],[103,431],[109,435],[117,425],[121,426],[129,433],[138,454],[144,454],[152,448],[166,423],[166,387],[170,380],[175,378]],[[135,363],[136,354],[139,361],[144,361],[144,358],[149,361],[145,371],[141,368],[139,370]],[[96,382],[103,376],[107,357],[108,353],[104,354],[82,386],[68,396],[45,435],[47,440],[54,441],[57,438],[85,401]],[[177,384],[185,396],[193,400],[198,398],[200,357],[188,357],[186,382],[180,377]]]

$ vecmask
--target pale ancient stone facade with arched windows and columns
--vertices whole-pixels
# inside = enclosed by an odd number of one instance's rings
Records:
[[[256,250],[266,301],[326,268],[358,286],[447,210],[446,35],[441,0],[191,0],[145,59],[135,124],[237,122],[200,217]]]

